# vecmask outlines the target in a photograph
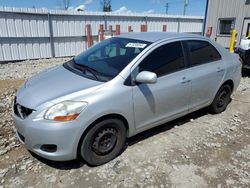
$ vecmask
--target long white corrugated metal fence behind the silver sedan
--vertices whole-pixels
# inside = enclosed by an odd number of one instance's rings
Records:
[[[103,12],[70,12],[32,8],[0,7],[0,61],[73,56],[86,49],[86,24],[91,24],[93,43],[99,25],[120,25],[121,33],[148,31],[202,32],[202,17]]]

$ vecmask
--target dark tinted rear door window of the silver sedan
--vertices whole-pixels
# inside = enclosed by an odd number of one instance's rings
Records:
[[[192,66],[221,59],[219,52],[207,41],[186,41]]]

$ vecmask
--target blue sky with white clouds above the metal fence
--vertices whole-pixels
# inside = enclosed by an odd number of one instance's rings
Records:
[[[62,9],[64,0],[0,0],[0,6],[36,7]],[[206,0],[111,0],[112,11],[166,14],[168,3],[169,15],[183,15],[184,1],[188,1],[186,15],[204,16]],[[100,0],[70,0],[70,6],[84,5],[87,11],[101,11]]]

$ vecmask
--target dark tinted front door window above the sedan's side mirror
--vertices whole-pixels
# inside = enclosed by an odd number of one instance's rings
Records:
[[[162,45],[152,51],[139,65],[140,71],[151,71],[162,76],[185,67],[180,42]]]

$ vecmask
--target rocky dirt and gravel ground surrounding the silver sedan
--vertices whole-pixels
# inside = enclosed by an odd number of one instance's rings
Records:
[[[0,187],[250,187],[250,73],[225,112],[200,110],[137,135],[100,167],[31,155],[14,134],[14,95],[26,78],[65,60],[0,65]]]

